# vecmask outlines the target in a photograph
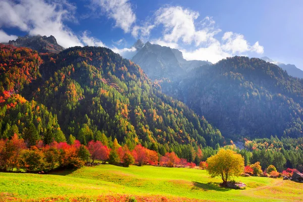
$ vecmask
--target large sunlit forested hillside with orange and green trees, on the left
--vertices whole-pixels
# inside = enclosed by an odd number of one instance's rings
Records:
[[[38,133],[35,139],[42,138],[47,128],[56,130],[53,133],[55,138],[58,130],[60,137],[63,133],[65,137],[72,134],[84,144],[105,134],[110,142],[117,138],[129,148],[142,143],[162,155],[171,148],[197,150],[198,145],[214,147],[217,143],[223,144],[220,131],[205,118],[198,117],[183,103],[161,93],[160,86],[151,82],[139,66],[108,48],[73,47],[58,55],[40,54],[41,57],[32,52],[37,57],[35,59],[23,56],[26,54],[23,50],[31,53],[28,48],[5,45],[1,48],[3,77],[0,86],[3,86],[1,94],[7,93],[7,97],[2,96],[4,113],[0,134],[7,134],[8,128],[14,124],[24,136],[24,128],[29,127],[18,118],[24,113],[21,108],[13,107],[15,113],[5,113],[11,97],[20,93],[25,97],[25,103],[32,100],[30,102],[41,106],[40,110],[45,109],[49,116],[54,117],[39,118],[28,109],[28,113],[33,114],[29,119],[31,128]],[[17,70],[11,66],[4,67],[6,61],[15,57],[15,52],[18,52],[16,57],[20,55],[21,58],[13,59],[13,62],[20,61],[33,67],[24,71],[21,64],[22,68],[17,67]],[[19,79],[25,76],[27,79],[20,82]],[[13,134],[9,132],[7,136]],[[189,153],[182,154],[183,158],[192,158]]]

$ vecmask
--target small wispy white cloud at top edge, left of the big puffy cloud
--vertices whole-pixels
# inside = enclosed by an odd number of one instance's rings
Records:
[[[92,0],[92,6],[93,9],[95,9],[94,6],[98,6],[108,18],[114,19],[115,26],[123,29],[125,33],[131,31],[136,21],[136,15],[128,0]]]

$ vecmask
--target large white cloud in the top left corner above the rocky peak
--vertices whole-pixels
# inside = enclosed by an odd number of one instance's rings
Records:
[[[17,27],[30,35],[53,35],[64,47],[83,45],[79,38],[64,25],[74,20],[75,7],[65,1],[2,0],[0,27]]]

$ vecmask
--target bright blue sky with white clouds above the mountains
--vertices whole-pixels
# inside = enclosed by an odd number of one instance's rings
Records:
[[[130,57],[141,38],[213,63],[267,56],[303,69],[303,1],[0,0],[0,40],[54,35]]]

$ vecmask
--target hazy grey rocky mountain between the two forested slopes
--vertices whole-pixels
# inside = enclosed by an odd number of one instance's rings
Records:
[[[137,44],[137,43],[135,43]],[[141,43],[139,43],[141,45]],[[132,61],[140,65],[149,78],[178,78],[187,71],[211,64],[208,61],[187,61],[178,49],[146,42]]]

